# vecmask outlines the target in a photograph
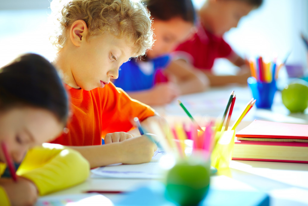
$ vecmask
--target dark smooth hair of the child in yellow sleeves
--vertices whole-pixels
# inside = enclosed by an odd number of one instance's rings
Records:
[[[39,107],[66,124],[68,97],[53,65],[37,54],[25,54],[0,69],[0,111]]]

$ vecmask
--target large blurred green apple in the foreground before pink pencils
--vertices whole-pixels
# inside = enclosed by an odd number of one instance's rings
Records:
[[[180,205],[197,205],[207,195],[209,183],[209,161],[182,160],[167,173],[166,196]]]

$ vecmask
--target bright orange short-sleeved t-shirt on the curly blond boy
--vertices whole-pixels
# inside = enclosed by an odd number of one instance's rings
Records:
[[[51,143],[70,146],[100,145],[101,138],[107,133],[129,131],[134,117],[142,121],[154,115],[151,107],[131,99],[112,83],[90,91],[70,86],[67,89],[73,112],[67,124],[69,131]]]

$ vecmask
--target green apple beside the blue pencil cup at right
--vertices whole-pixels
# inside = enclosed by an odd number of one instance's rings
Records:
[[[308,82],[298,79],[281,92],[282,103],[290,112],[304,112],[308,107]]]

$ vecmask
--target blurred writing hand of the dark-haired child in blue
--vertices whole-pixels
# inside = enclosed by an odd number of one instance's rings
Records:
[[[162,105],[170,103],[174,98],[180,95],[179,87],[172,82],[163,82],[156,84],[151,90],[153,104]]]

